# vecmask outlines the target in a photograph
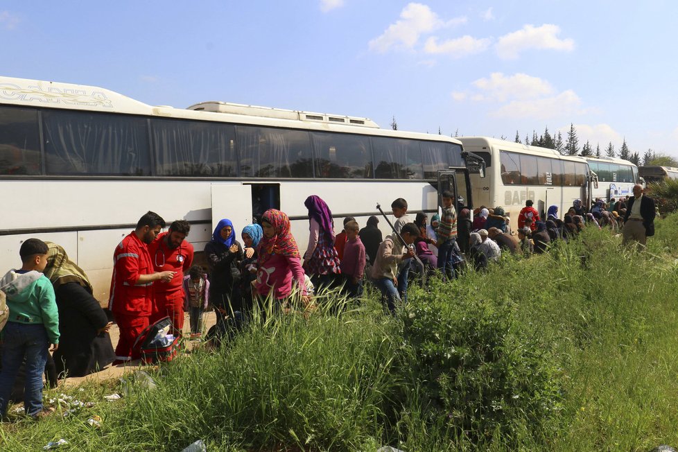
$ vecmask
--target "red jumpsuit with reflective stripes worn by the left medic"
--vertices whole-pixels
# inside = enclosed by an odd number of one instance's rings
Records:
[[[113,253],[113,277],[108,308],[120,330],[116,360],[140,358],[139,350],[132,351],[141,331],[148,327],[153,283],[137,284],[139,276],[153,273],[148,246],[132,231],[123,238]]]

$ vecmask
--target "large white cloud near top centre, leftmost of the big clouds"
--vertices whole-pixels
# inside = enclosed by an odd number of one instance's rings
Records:
[[[401,11],[400,19],[370,41],[370,50],[384,53],[393,47],[412,49],[422,34],[432,33],[446,26],[464,24],[466,21],[466,17],[444,21],[426,5],[408,3]]]

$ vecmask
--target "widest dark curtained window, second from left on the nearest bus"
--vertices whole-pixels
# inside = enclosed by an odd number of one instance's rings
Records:
[[[150,175],[146,119],[44,110],[48,175]]]

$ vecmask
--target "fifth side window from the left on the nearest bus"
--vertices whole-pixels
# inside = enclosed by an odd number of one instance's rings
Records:
[[[311,132],[315,177],[371,179],[370,138],[362,135]]]

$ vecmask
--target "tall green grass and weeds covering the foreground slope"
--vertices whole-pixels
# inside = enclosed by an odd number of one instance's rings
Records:
[[[103,396],[118,381],[46,391],[97,403],[3,424],[0,449],[60,437],[71,451],[181,451],[197,439],[210,451],[676,446],[677,231],[678,215],[658,221],[638,253],[587,229],[548,255],[412,288],[398,318],[374,290],[342,315],[270,315],[219,351],[150,368],[154,390],[116,402]]]

